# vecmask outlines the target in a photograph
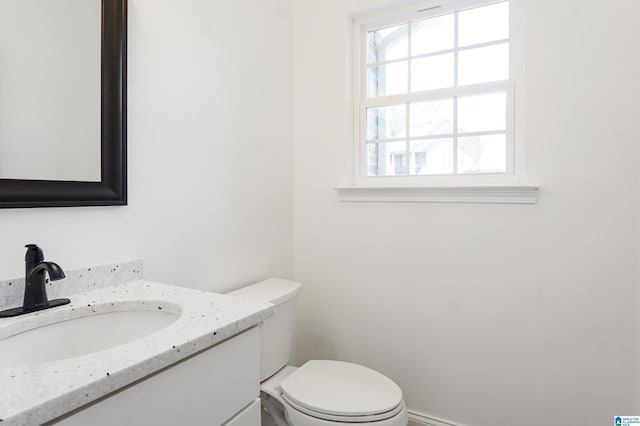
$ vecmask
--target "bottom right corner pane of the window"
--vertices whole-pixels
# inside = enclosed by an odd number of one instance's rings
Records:
[[[504,173],[506,136],[458,138],[458,173]]]

